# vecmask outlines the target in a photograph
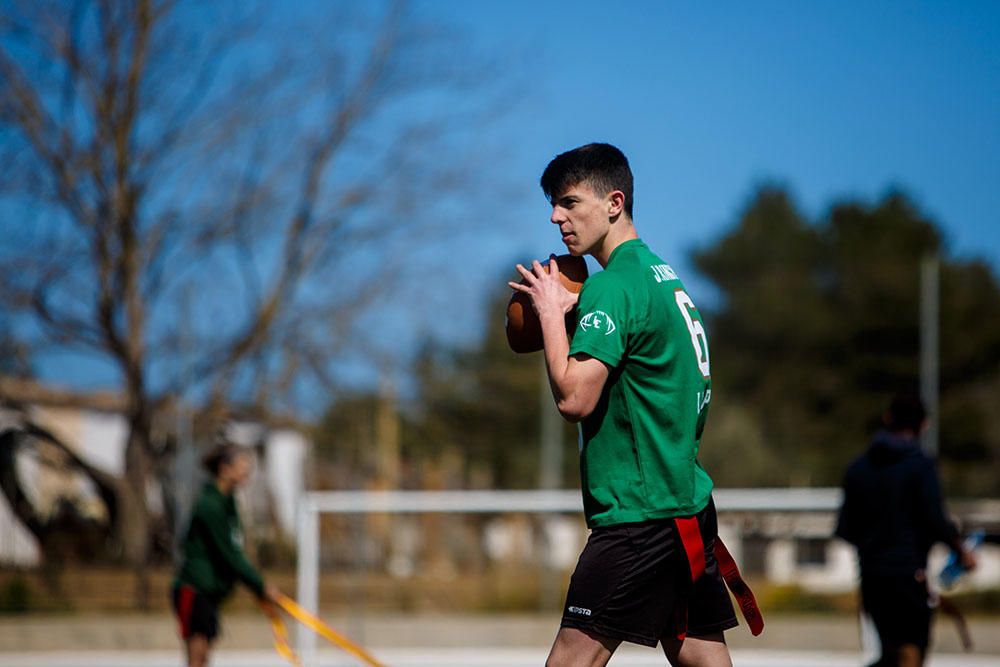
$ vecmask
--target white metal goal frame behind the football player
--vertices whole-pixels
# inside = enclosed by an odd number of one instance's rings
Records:
[[[716,489],[720,512],[834,512],[836,488]],[[583,512],[579,490],[545,491],[313,491],[298,509],[297,597],[301,607],[319,612],[319,516],[325,514],[509,513],[574,514]],[[304,667],[316,664],[316,636],[300,625],[297,634]]]

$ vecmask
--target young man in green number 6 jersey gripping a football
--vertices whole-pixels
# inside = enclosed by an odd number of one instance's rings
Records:
[[[712,383],[701,315],[632,223],[620,150],[588,144],[541,179],[573,255],[604,268],[577,295],[558,266],[518,265],[542,325],[556,405],[580,422],[584,512],[592,529],[548,667],[603,666],[622,641],[663,646],[672,665],[730,667],[737,625],[714,557],[712,480],[698,444]],[[579,319],[572,342],[564,316]]]

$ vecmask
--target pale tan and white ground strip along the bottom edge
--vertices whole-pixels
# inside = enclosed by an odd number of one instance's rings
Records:
[[[324,615],[390,665],[540,665],[556,631],[545,615]],[[976,650],[962,655],[958,635],[946,620],[935,632],[935,667],[1000,666],[1000,618],[970,620]],[[271,651],[270,628],[262,614],[223,617],[216,667],[281,664]],[[0,664],[5,667],[90,667],[91,665],[179,664],[171,616],[74,615],[0,617]],[[292,632],[293,641],[295,631]],[[741,627],[727,633],[737,665],[820,667],[861,664],[857,623],[850,616],[771,616],[761,637]],[[321,645],[322,646],[322,645]],[[321,651],[321,664],[356,664]],[[475,659],[475,661],[472,661]],[[612,665],[664,664],[658,651],[623,650]]]

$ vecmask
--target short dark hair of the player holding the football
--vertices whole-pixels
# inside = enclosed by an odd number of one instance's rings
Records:
[[[580,183],[586,183],[601,197],[621,190],[625,213],[632,217],[632,169],[625,154],[611,144],[587,144],[561,153],[542,173],[542,192],[549,201]]]

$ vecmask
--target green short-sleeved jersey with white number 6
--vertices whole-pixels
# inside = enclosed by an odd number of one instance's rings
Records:
[[[570,354],[611,368],[581,424],[587,524],[689,516],[712,480],[698,446],[712,381],[701,315],[673,269],[639,239],[584,283]]]

